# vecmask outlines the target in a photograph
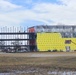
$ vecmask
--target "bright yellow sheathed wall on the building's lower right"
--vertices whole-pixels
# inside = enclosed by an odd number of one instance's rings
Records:
[[[39,51],[74,51],[76,38],[62,38],[60,33],[37,33],[37,49]]]

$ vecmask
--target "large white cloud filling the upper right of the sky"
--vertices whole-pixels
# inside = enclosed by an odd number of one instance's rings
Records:
[[[40,16],[54,23],[76,24],[76,5],[75,0],[59,0],[62,4],[41,3],[36,4],[34,11],[39,12]],[[71,4],[72,3],[72,4]],[[51,24],[51,23],[50,23]]]

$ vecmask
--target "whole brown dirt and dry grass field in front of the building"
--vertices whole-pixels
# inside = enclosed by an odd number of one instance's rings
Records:
[[[0,53],[0,73],[29,71],[31,74],[23,75],[48,75],[55,70],[76,71],[76,52]]]

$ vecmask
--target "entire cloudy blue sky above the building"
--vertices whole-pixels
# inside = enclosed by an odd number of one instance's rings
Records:
[[[76,0],[0,0],[0,27],[76,25]]]

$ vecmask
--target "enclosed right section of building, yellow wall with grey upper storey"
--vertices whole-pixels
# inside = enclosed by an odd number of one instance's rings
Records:
[[[33,26],[28,32],[36,34],[29,44],[37,51],[76,51],[76,26]]]

